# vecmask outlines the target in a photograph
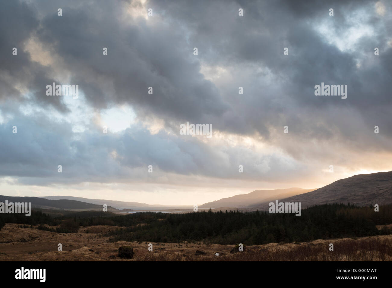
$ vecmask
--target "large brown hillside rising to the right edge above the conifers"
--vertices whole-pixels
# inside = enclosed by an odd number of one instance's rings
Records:
[[[360,174],[340,179],[327,186],[305,194],[276,198],[279,202],[301,202],[302,208],[319,204],[344,203],[358,206],[392,203],[392,171]],[[258,205],[268,210],[268,203]]]

